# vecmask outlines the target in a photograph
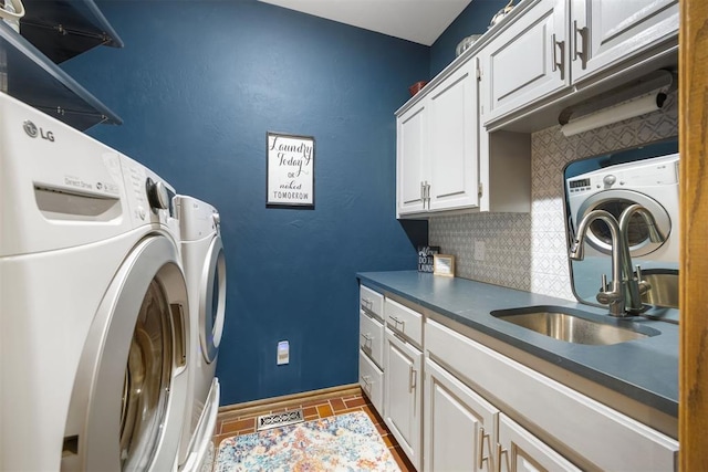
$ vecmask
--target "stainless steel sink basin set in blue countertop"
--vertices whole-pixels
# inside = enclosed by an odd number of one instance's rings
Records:
[[[574,344],[611,345],[660,334],[626,319],[603,319],[572,308],[537,306],[503,310],[492,316],[554,339]]]

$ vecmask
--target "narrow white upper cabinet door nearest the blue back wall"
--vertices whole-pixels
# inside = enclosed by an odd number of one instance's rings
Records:
[[[398,216],[424,210],[423,162],[427,153],[427,109],[421,101],[396,122],[396,202]]]

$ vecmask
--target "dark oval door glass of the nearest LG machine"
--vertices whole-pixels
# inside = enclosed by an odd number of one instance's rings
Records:
[[[173,370],[171,315],[165,292],[149,284],[138,313],[123,387],[121,463],[123,470],[149,464],[160,438]]]

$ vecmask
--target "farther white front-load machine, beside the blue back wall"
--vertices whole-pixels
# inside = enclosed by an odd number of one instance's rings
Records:
[[[180,470],[198,471],[207,458],[219,411],[217,355],[226,311],[226,258],[219,213],[192,197],[175,199],[189,293],[189,399],[179,451]]]

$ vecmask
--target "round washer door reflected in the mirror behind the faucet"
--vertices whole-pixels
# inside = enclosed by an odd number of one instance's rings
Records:
[[[656,220],[657,229],[668,240],[671,232],[671,219],[666,209],[653,198],[633,190],[605,190],[589,197],[580,206],[575,221],[577,224],[592,210],[608,211],[618,221],[624,209],[634,203],[639,203],[649,210]],[[649,241],[646,221],[637,213],[632,216],[629,220],[627,239],[629,241],[629,253],[633,258],[650,254],[664,244],[664,242]],[[596,220],[591,223],[585,241],[595,250],[604,254],[612,254],[610,228],[603,221]]]

